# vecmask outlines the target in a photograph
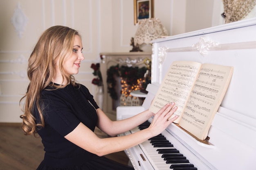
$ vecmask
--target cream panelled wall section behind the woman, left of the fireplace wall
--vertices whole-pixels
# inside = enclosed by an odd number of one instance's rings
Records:
[[[50,26],[65,25],[80,32],[85,60],[76,78],[94,91],[90,65],[99,60],[102,42],[112,37],[112,24],[105,23],[112,20],[110,7],[112,0],[0,1],[0,122],[21,122],[18,104],[29,83],[27,60],[38,37]]]

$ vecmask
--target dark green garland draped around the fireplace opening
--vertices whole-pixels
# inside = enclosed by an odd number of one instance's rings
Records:
[[[144,74],[148,69],[146,67],[128,67],[122,65],[113,65],[108,68],[107,71],[107,84],[108,84],[108,93],[113,100],[118,99],[115,86],[117,84],[115,76],[122,77],[126,80],[126,83],[130,86],[133,86],[137,83],[137,79],[144,78]]]

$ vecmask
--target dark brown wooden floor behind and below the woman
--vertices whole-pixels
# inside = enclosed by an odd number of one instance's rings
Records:
[[[108,137],[95,129],[99,137]],[[0,170],[35,170],[43,160],[44,150],[41,138],[23,134],[19,123],[0,123]],[[106,157],[128,164],[128,157],[122,152]]]

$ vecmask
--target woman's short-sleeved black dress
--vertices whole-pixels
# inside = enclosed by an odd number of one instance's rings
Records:
[[[45,157],[37,170],[131,170],[130,166],[112,161],[76,146],[65,139],[80,122],[94,131],[99,108],[88,89],[83,85],[67,85],[53,90],[47,87],[41,92],[45,127],[37,132],[42,138]],[[89,102],[90,101],[90,102]],[[36,107],[35,107],[36,108]],[[38,110],[34,110],[36,122],[40,123]]]

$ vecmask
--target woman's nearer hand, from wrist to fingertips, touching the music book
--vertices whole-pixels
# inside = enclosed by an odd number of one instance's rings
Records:
[[[179,116],[175,116],[169,119],[173,113],[177,110],[177,106],[174,102],[167,103],[162,109],[160,109],[153,118],[148,129],[153,133],[153,136],[159,135],[164,131],[174,120],[176,120]],[[169,119],[169,120],[168,120]]]

